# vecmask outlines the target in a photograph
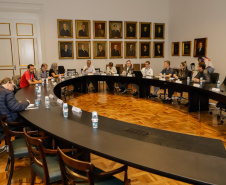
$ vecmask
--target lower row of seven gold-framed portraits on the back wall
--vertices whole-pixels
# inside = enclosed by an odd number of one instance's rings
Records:
[[[165,42],[153,42],[153,57],[164,58]],[[58,41],[59,59],[74,59],[74,42]],[[123,58],[123,42],[109,42],[109,58]],[[137,42],[124,42],[125,58],[137,58]],[[91,41],[76,41],[76,58],[91,58]],[[93,58],[107,59],[107,41],[93,41]],[[151,42],[139,42],[139,58],[151,58]]]

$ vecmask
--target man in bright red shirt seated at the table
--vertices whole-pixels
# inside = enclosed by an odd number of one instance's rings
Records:
[[[20,79],[20,88],[27,87],[33,84],[40,84],[42,83],[41,80],[36,80],[34,76],[34,65],[29,64],[27,66],[28,70],[24,72],[23,76]]]

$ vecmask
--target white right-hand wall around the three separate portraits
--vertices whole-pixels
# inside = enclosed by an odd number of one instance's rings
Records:
[[[213,61],[222,81],[226,76],[226,1],[170,0],[169,7],[168,54],[172,66],[179,67],[185,60],[197,66],[197,57],[193,57],[194,39],[207,37],[207,57]],[[171,56],[171,43],[182,41],[192,41],[192,56]]]

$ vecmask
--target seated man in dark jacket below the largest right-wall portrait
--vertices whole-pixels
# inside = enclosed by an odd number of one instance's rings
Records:
[[[198,64],[198,74],[194,77],[194,82],[200,82],[200,78],[203,78],[203,82],[210,82],[210,73],[206,69],[206,64],[204,62],[200,62]]]

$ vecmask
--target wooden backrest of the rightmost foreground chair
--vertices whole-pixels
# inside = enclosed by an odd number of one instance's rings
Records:
[[[67,184],[67,182],[70,182],[70,184],[77,184],[78,182],[83,182],[88,183],[89,185],[94,185],[93,164],[73,159],[64,154],[59,147],[57,148],[57,157],[60,164],[63,184]],[[69,169],[68,166],[72,167],[74,171]],[[77,173],[78,171],[85,172],[86,176]],[[80,180],[76,182],[74,179]]]

